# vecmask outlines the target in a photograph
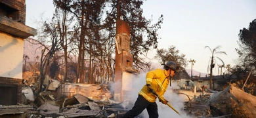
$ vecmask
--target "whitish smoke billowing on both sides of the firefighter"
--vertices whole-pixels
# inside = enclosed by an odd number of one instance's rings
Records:
[[[139,75],[134,75],[132,83],[133,88],[131,91],[129,91],[127,96],[123,98],[123,108],[125,109],[131,109],[133,108],[133,105],[135,101],[137,100],[138,93],[140,89],[146,84],[146,73],[140,73]],[[190,118],[190,116],[186,116],[185,111],[183,111],[184,108],[184,100],[186,99],[186,96],[182,94],[176,94],[173,92],[173,89],[178,88],[176,83],[171,83],[171,87],[167,88],[167,91],[164,94],[164,98],[169,101],[169,104],[173,106],[179,113],[182,115],[182,117]],[[156,100],[156,103],[158,104],[158,113],[159,117],[161,118],[169,118],[169,117],[181,117],[178,113],[176,113],[173,109],[169,108],[169,106],[162,104],[159,102],[159,100]],[[142,111],[142,113],[139,115],[139,117],[148,117],[148,112],[146,109]]]

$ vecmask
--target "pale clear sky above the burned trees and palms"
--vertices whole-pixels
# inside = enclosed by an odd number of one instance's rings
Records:
[[[163,14],[163,24],[158,34],[158,49],[175,46],[187,60],[196,60],[193,69],[201,73],[209,73],[207,67],[211,52],[221,46],[216,54],[224,64],[235,66],[238,54],[238,34],[249,23],[256,19],[255,0],[148,0],[142,5],[143,16],[153,18],[156,23]],[[36,20],[52,18],[54,12],[52,0],[26,0],[26,25],[37,29]],[[156,50],[148,53],[150,62],[154,60]],[[221,64],[218,61],[218,64]],[[191,63],[185,68],[191,69]],[[224,70],[223,70],[224,71]],[[213,74],[218,75],[217,68]],[[220,73],[219,73],[220,74]]]

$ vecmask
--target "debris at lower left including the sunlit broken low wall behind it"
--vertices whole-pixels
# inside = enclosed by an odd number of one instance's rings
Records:
[[[58,90],[56,88],[40,92],[32,99],[32,89],[23,87],[23,103],[15,106],[0,105],[0,117],[119,117],[126,112],[120,102],[110,99],[113,96],[107,85],[75,84],[66,87],[74,91],[78,89],[79,92],[74,92],[76,94],[68,98],[57,98],[54,96]]]

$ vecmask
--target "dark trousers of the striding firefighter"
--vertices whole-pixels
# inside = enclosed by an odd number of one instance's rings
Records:
[[[138,96],[133,108],[127,111],[122,118],[132,118],[139,115],[144,109],[148,111],[148,115],[150,118],[158,118],[158,105],[156,102],[148,102],[142,96]]]

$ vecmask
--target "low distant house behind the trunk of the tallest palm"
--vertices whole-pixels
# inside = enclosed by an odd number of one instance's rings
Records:
[[[222,85],[223,83],[226,83],[226,81],[230,81],[230,79],[236,79],[236,75],[217,75],[213,76],[213,90],[218,90],[219,85]],[[207,88],[210,87],[210,77],[196,77],[192,78],[191,81],[194,82],[194,86],[196,87],[202,87],[207,86]]]

